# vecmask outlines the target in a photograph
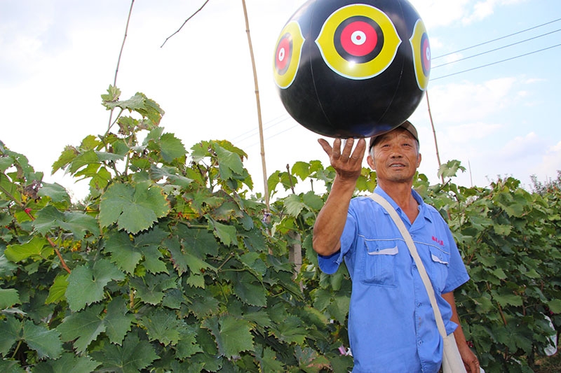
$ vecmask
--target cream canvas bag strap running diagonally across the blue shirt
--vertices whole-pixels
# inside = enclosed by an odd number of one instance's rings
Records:
[[[405,227],[405,224],[403,224],[403,221],[398,215],[396,209],[393,209],[393,206],[391,206],[391,204],[388,201],[386,201],[384,197],[376,193],[372,193],[372,195],[370,195],[370,198],[374,199],[374,201],[378,202],[378,204],[382,206],[382,208],[388,211],[391,218],[393,219],[393,222],[396,223],[396,225],[398,226],[398,229],[401,235],[403,236],[403,239],[405,239],[407,248],[409,248],[409,252],[411,253],[413,260],[417,265],[417,269],[419,269],[419,274],[421,275],[421,280],[423,281],[424,286],[426,288],[426,293],[428,293],[428,298],[431,300],[431,306],[433,307],[433,312],[436,320],[436,326],[438,327],[438,332],[440,332],[442,338],[445,338],[446,328],[444,326],[444,321],[442,321],[442,314],[440,314],[440,309],[438,308],[438,304],[436,303],[433,284],[431,283],[431,280],[428,279],[428,274],[426,274],[426,269],[423,265],[423,262],[421,261],[421,258],[419,257],[419,253],[417,253],[417,248],[413,243],[411,234],[409,234],[409,231],[407,231],[407,228]]]

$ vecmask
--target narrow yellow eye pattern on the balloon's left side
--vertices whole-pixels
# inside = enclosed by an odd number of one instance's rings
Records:
[[[302,29],[296,21],[288,22],[280,31],[273,63],[273,77],[278,87],[288,88],[295,80],[304,41]]]

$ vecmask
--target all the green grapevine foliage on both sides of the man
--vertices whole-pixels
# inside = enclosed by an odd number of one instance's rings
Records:
[[[267,211],[249,195],[243,150],[212,140],[188,151],[156,102],[120,95],[102,95],[107,132],[53,164],[89,183],[78,204],[0,142],[0,370],[351,370],[349,273],[320,272],[311,245],[334,170],[314,160],[274,172],[271,196],[285,197]],[[559,181],[464,188],[450,180],[461,170],[450,161],[445,184],[418,175],[415,188],[468,267],[456,297],[482,365],[529,372],[561,327]],[[357,194],[375,185],[364,168]],[[297,251],[302,264],[289,261]]]

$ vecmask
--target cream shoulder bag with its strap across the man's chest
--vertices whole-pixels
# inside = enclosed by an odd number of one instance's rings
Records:
[[[380,206],[384,207],[386,211],[390,214],[393,222],[396,223],[398,226],[403,239],[405,239],[405,243],[407,243],[407,248],[409,248],[409,252],[413,257],[415,264],[417,265],[417,269],[419,270],[419,274],[421,275],[421,280],[423,280],[424,286],[426,288],[426,293],[428,294],[428,298],[431,300],[431,305],[433,306],[434,317],[436,320],[436,326],[438,327],[438,332],[440,336],[442,336],[442,340],[444,342],[444,348],[442,349],[442,371],[444,373],[466,373],[466,367],[464,366],[464,361],[461,360],[460,351],[458,350],[458,345],[456,344],[456,339],[454,338],[454,333],[451,335],[446,335],[446,328],[444,326],[444,321],[442,320],[442,315],[440,314],[440,309],[438,308],[438,304],[436,303],[436,297],[434,295],[433,284],[431,280],[428,279],[428,274],[426,274],[426,269],[419,258],[419,253],[417,253],[417,248],[411,238],[411,234],[407,231],[405,224],[401,221],[401,218],[398,216],[396,210],[393,209],[391,204],[381,197],[381,195],[377,195],[376,193],[372,193],[370,198],[374,199],[374,201],[378,202]]]

